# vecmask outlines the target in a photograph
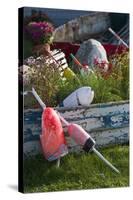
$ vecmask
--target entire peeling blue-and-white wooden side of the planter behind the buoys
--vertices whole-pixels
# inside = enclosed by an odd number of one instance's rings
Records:
[[[69,122],[81,125],[95,140],[97,147],[110,144],[124,144],[129,141],[129,102],[93,104],[89,107],[56,108]],[[42,110],[24,111],[24,154],[34,155],[41,152]],[[68,137],[64,127],[70,152],[82,148]]]

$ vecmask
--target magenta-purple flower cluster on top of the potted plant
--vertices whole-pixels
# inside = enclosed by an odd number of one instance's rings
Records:
[[[49,22],[30,22],[25,27],[25,33],[34,44],[42,44],[52,37],[54,27]]]

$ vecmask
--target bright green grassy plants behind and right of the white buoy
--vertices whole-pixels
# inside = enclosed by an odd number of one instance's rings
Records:
[[[100,72],[77,74],[79,81],[66,80],[59,84],[58,100],[61,102],[75,89],[90,86],[95,92],[93,103],[104,103],[129,99],[129,53],[110,58],[111,74],[105,78]]]

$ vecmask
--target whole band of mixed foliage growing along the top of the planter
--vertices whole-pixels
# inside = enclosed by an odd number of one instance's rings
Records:
[[[111,73],[107,77],[100,72],[76,74],[76,78],[62,79],[57,67],[45,64],[36,68],[32,75],[31,86],[34,86],[46,105],[57,106],[77,88],[90,86],[95,92],[93,103],[105,103],[129,99],[129,53],[114,55],[110,58]]]

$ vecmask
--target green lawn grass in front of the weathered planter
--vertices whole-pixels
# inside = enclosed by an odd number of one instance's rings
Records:
[[[69,154],[56,162],[42,155],[24,161],[24,192],[50,192],[129,186],[129,147],[112,146],[100,152],[119,170],[116,174],[94,154]]]

